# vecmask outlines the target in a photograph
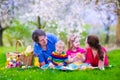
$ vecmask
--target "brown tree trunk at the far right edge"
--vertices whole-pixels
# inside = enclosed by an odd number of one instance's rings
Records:
[[[118,16],[118,22],[116,26],[116,44],[120,47],[120,16]]]

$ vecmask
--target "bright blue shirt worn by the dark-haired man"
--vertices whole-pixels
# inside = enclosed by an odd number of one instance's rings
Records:
[[[47,59],[55,51],[55,43],[58,41],[58,38],[54,34],[46,34],[47,37],[47,50],[44,50],[40,44],[34,43],[34,55],[38,55],[39,62],[48,63]]]

